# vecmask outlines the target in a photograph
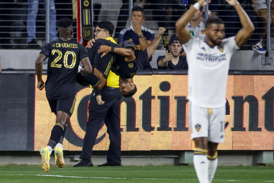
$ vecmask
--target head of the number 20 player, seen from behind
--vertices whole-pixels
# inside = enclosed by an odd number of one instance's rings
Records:
[[[69,18],[61,18],[60,20],[57,21],[57,33],[59,35],[60,39],[71,39],[73,30],[72,30],[72,20]]]

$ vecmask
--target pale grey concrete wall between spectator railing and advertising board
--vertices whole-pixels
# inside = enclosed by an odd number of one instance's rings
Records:
[[[35,69],[35,60],[41,50],[30,49],[0,49],[0,64],[2,69]],[[150,65],[157,68],[158,56],[165,55],[165,50],[156,50],[152,56]],[[274,51],[271,52],[274,58]],[[274,70],[274,63],[270,59],[270,65],[263,65],[264,55],[256,51],[236,51],[230,62],[230,70]],[[43,69],[47,69],[44,64]]]

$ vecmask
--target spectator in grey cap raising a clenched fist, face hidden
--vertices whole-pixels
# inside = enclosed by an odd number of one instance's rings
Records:
[[[124,48],[131,49],[135,53],[136,60],[138,63],[138,70],[150,69],[147,67],[147,65],[150,65],[149,59],[155,53],[155,51],[159,45],[159,42],[162,39],[162,35],[164,34],[165,31],[166,31],[166,29],[164,27],[159,27],[158,34],[156,34],[155,38],[152,40],[152,42],[147,47],[147,49],[145,49],[144,51],[141,51],[141,52],[135,51],[135,45],[132,41],[130,41],[130,40],[124,41],[122,46]]]

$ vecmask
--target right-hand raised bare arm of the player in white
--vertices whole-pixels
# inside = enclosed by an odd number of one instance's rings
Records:
[[[249,39],[254,31],[254,25],[248,15],[245,13],[240,3],[237,0],[225,0],[229,5],[233,6],[240,18],[243,29],[241,29],[235,37],[235,41],[238,47],[241,47]]]

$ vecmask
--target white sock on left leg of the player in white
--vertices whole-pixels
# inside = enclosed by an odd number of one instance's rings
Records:
[[[194,154],[193,163],[196,171],[196,175],[200,183],[208,182],[208,162],[207,156],[205,154]]]

